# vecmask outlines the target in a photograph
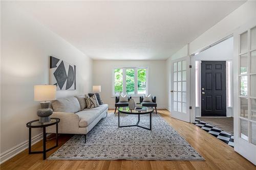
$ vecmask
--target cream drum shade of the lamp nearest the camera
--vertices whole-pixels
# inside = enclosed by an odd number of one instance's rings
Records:
[[[35,85],[34,101],[51,101],[56,99],[56,85]]]

